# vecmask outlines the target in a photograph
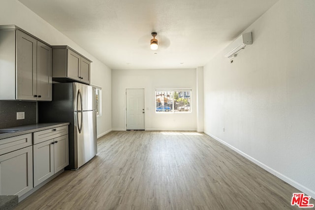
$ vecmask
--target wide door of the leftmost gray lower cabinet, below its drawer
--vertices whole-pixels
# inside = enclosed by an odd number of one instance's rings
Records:
[[[32,146],[0,155],[0,195],[19,197],[33,188]]]

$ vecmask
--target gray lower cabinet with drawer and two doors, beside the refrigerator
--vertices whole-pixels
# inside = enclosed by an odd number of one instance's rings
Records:
[[[67,128],[62,126],[33,133],[34,187],[69,165]]]

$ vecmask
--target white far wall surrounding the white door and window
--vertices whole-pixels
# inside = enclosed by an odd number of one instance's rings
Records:
[[[196,130],[196,69],[113,70],[112,128],[126,130],[126,89],[145,89],[146,130]],[[191,88],[191,113],[156,113],[156,89]]]

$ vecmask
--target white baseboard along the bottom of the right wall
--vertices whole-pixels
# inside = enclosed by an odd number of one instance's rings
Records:
[[[248,160],[252,161],[253,163],[255,163],[256,165],[258,165],[259,167],[265,169],[266,171],[268,171],[269,173],[275,175],[276,177],[278,177],[281,180],[284,180],[286,183],[292,185],[293,187],[297,188],[298,190],[301,190],[303,193],[307,194],[308,196],[311,196],[312,198],[315,198],[315,191],[309,189],[308,187],[298,183],[295,180],[292,180],[288,177],[286,177],[285,175],[281,174],[280,172],[270,168],[269,166],[259,162],[258,160],[256,160],[255,158],[251,157],[250,155],[244,153],[243,151],[233,147],[232,145],[224,142],[223,140],[221,140],[220,138],[211,135],[210,133],[204,131],[205,134],[207,134],[208,136],[214,138],[215,140],[221,142],[223,145],[229,147],[230,149],[236,151],[237,153],[239,153],[240,155],[242,155],[243,157],[247,158]]]

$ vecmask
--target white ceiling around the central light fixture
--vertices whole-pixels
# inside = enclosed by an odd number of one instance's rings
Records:
[[[278,0],[19,1],[111,69],[168,69],[205,65]]]

